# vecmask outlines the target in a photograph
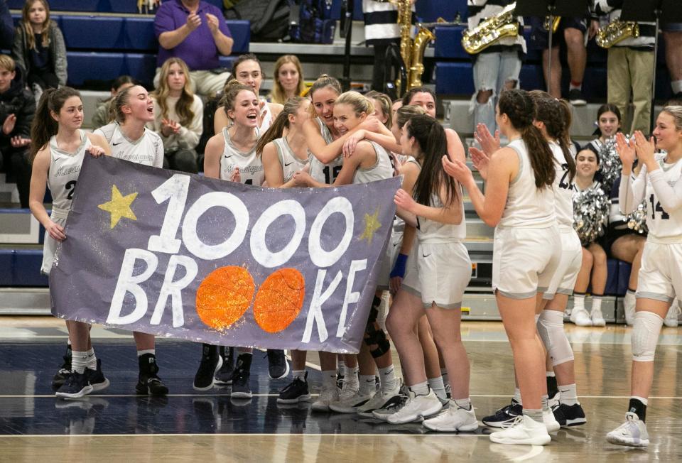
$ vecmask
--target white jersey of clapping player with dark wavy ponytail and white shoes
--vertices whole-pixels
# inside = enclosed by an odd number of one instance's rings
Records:
[[[509,183],[507,205],[497,227],[546,228],[556,223],[554,192],[551,188],[535,186],[535,173],[528,156],[526,143],[519,138],[509,143],[519,156],[519,173]]]

